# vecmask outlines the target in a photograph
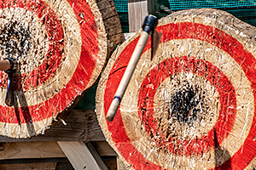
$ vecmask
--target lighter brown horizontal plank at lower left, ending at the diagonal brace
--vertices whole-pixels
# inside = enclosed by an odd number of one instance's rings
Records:
[[[66,157],[56,142],[2,143],[0,160]]]

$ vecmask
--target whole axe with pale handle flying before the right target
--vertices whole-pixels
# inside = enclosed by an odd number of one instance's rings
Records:
[[[119,87],[114,95],[113,101],[108,109],[107,119],[108,121],[112,122],[113,117],[116,114],[116,111],[119,108],[119,104],[125,94],[125,90],[131,80],[131,76],[135,67],[137,65],[138,60],[140,59],[141,55],[143,54],[143,49],[145,48],[146,43],[148,42],[148,37],[151,35],[151,59],[153,59],[156,49],[160,43],[161,34],[157,31],[154,31],[155,27],[158,24],[158,20],[155,16],[149,14],[143,23],[143,33],[137,42],[137,46],[131,55],[131,59],[127,65],[125,70],[125,74],[122,77]]]

